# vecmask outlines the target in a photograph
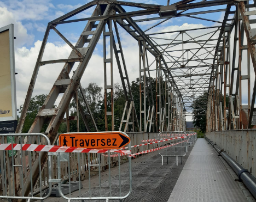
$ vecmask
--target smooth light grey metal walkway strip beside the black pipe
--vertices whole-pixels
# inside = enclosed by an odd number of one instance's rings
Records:
[[[173,201],[247,202],[247,199],[212,146],[199,138],[168,199]]]

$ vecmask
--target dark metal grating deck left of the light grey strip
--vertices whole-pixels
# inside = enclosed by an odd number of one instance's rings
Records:
[[[192,147],[193,148],[193,147]],[[161,156],[159,151],[142,155],[135,160],[132,160],[132,193],[123,200],[123,202],[141,201],[141,202],[164,202],[168,200],[170,194],[178,180],[179,175],[182,172],[185,162],[192,150],[188,147],[187,155],[183,157],[183,164],[181,164],[181,158],[179,158],[178,166],[176,166],[176,157],[169,157],[168,164],[166,158],[164,158],[164,165],[161,166]],[[168,153],[173,154],[174,147],[168,148]],[[166,152],[166,149],[162,150]],[[177,153],[180,155],[181,148],[177,149]],[[122,195],[125,195],[129,190],[129,173],[125,171],[127,163],[121,165],[121,187]],[[112,169],[114,172],[114,169]],[[118,176],[112,175],[112,195],[119,195],[119,181]],[[92,189],[92,196],[100,195],[98,187]],[[109,196],[109,181],[102,182],[102,196]],[[89,193],[86,192],[82,196],[89,197]],[[89,201],[89,200],[84,200]],[[101,202],[100,200],[97,200]],[[119,202],[119,200],[110,200],[113,202]],[[96,202],[96,201],[95,201]]]

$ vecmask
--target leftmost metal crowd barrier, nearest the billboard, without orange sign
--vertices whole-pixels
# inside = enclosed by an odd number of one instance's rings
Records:
[[[46,162],[41,162],[41,155],[45,155],[45,159],[47,159],[46,152],[25,151],[22,145],[50,145],[49,138],[42,133],[7,133],[0,134],[0,143],[9,143],[11,146],[9,148],[11,150],[0,150],[0,199],[8,199],[8,201],[11,201],[11,199],[43,201],[48,198],[52,187],[50,182],[51,156],[48,157]],[[21,144],[21,150],[13,150],[16,144]],[[46,166],[43,167],[45,163]],[[37,179],[31,180],[34,173],[38,173]],[[48,194],[42,191],[45,187],[49,187]]]

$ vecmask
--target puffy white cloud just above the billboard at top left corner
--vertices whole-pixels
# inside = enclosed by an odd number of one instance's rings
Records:
[[[10,23],[14,24],[14,35],[15,46],[20,47],[25,44],[30,45],[34,40],[34,36],[27,34],[27,29],[17,21],[13,13],[7,10],[7,8],[0,7],[0,27],[9,25]]]

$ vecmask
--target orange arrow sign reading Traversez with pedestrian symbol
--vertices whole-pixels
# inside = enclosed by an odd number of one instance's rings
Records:
[[[77,132],[59,136],[60,146],[87,149],[120,149],[130,143],[124,132]]]

